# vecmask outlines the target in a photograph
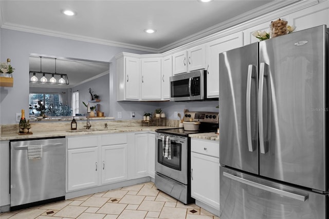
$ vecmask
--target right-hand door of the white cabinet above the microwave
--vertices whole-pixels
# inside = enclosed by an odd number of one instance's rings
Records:
[[[205,45],[195,46],[188,50],[188,70],[198,70],[205,68],[206,49]]]

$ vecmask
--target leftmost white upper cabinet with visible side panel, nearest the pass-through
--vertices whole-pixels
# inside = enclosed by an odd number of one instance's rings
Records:
[[[140,59],[117,59],[117,101],[140,99]]]

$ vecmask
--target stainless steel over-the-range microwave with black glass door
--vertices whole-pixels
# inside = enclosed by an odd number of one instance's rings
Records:
[[[170,101],[215,100],[207,99],[207,71],[204,69],[170,77]]]

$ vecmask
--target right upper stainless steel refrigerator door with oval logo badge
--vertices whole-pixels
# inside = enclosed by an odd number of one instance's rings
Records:
[[[329,190],[327,48],[325,26],[260,42],[260,175]]]

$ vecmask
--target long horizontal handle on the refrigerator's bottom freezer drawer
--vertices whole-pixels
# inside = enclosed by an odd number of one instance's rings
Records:
[[[233,179],[235,181],[239,181],[239,182],[241,182],[243,184],[246,184],[248,186],[252,186],[252,187],[262,189],[262,190],[265,190],[265,191],[268,191],[268,192],[276,193],[278,195],[283,195],[285,197],[294,198],[294,199],[300,200],[302,202],[305,202],[308,199],[308,195],[299,195],[299,194],[296,194],[296,193],[276,189],[276,188],[273,188],[273,187],[270,187],[270,186],[265,186],[263,184],[253,182],[253,181],[250,181],[248,179],[240,178],[238,176],[234,176],[234,175],[226,173],[226,172],[223,173],[223,176],[226,176],[226,177],[228,177],[230,179]]]

